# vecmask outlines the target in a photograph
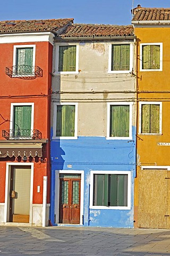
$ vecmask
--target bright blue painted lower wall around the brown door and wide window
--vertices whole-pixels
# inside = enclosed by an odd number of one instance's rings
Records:
[[[51,141],[50,220],[55,206],[55,170],[84,171],[84,226],[133,227],[135,177],[135,129],[133,140],[106,140],[104,137],[78,137],[77,140]],[[72,165],[68,168],[67,165]],[[90,171],[131,171],[131,210],[89,209]]]

